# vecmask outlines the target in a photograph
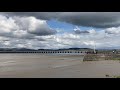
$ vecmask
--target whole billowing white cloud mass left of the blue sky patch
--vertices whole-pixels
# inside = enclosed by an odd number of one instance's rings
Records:
[[[45,20],[35,17],[6,17],[0,15],[0,35],[7,37],[31,37],[35,35],[51,35],[52,30]],[[32,35],[35,34],[35,35]]]

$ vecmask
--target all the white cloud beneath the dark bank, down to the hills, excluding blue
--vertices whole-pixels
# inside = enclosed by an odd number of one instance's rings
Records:
[[[120,27],[112,27],[104,30],[87,30],[88,34],[81,34],[82,29],[74,31],[80,34],[56,31],[51,29],[46,20],[37,19],[33,16],[0,15],[0,47],[19,48],[93,48],[94,41],[97,48],[120,48]],[[83,33],[83,32],[82,32]]]

